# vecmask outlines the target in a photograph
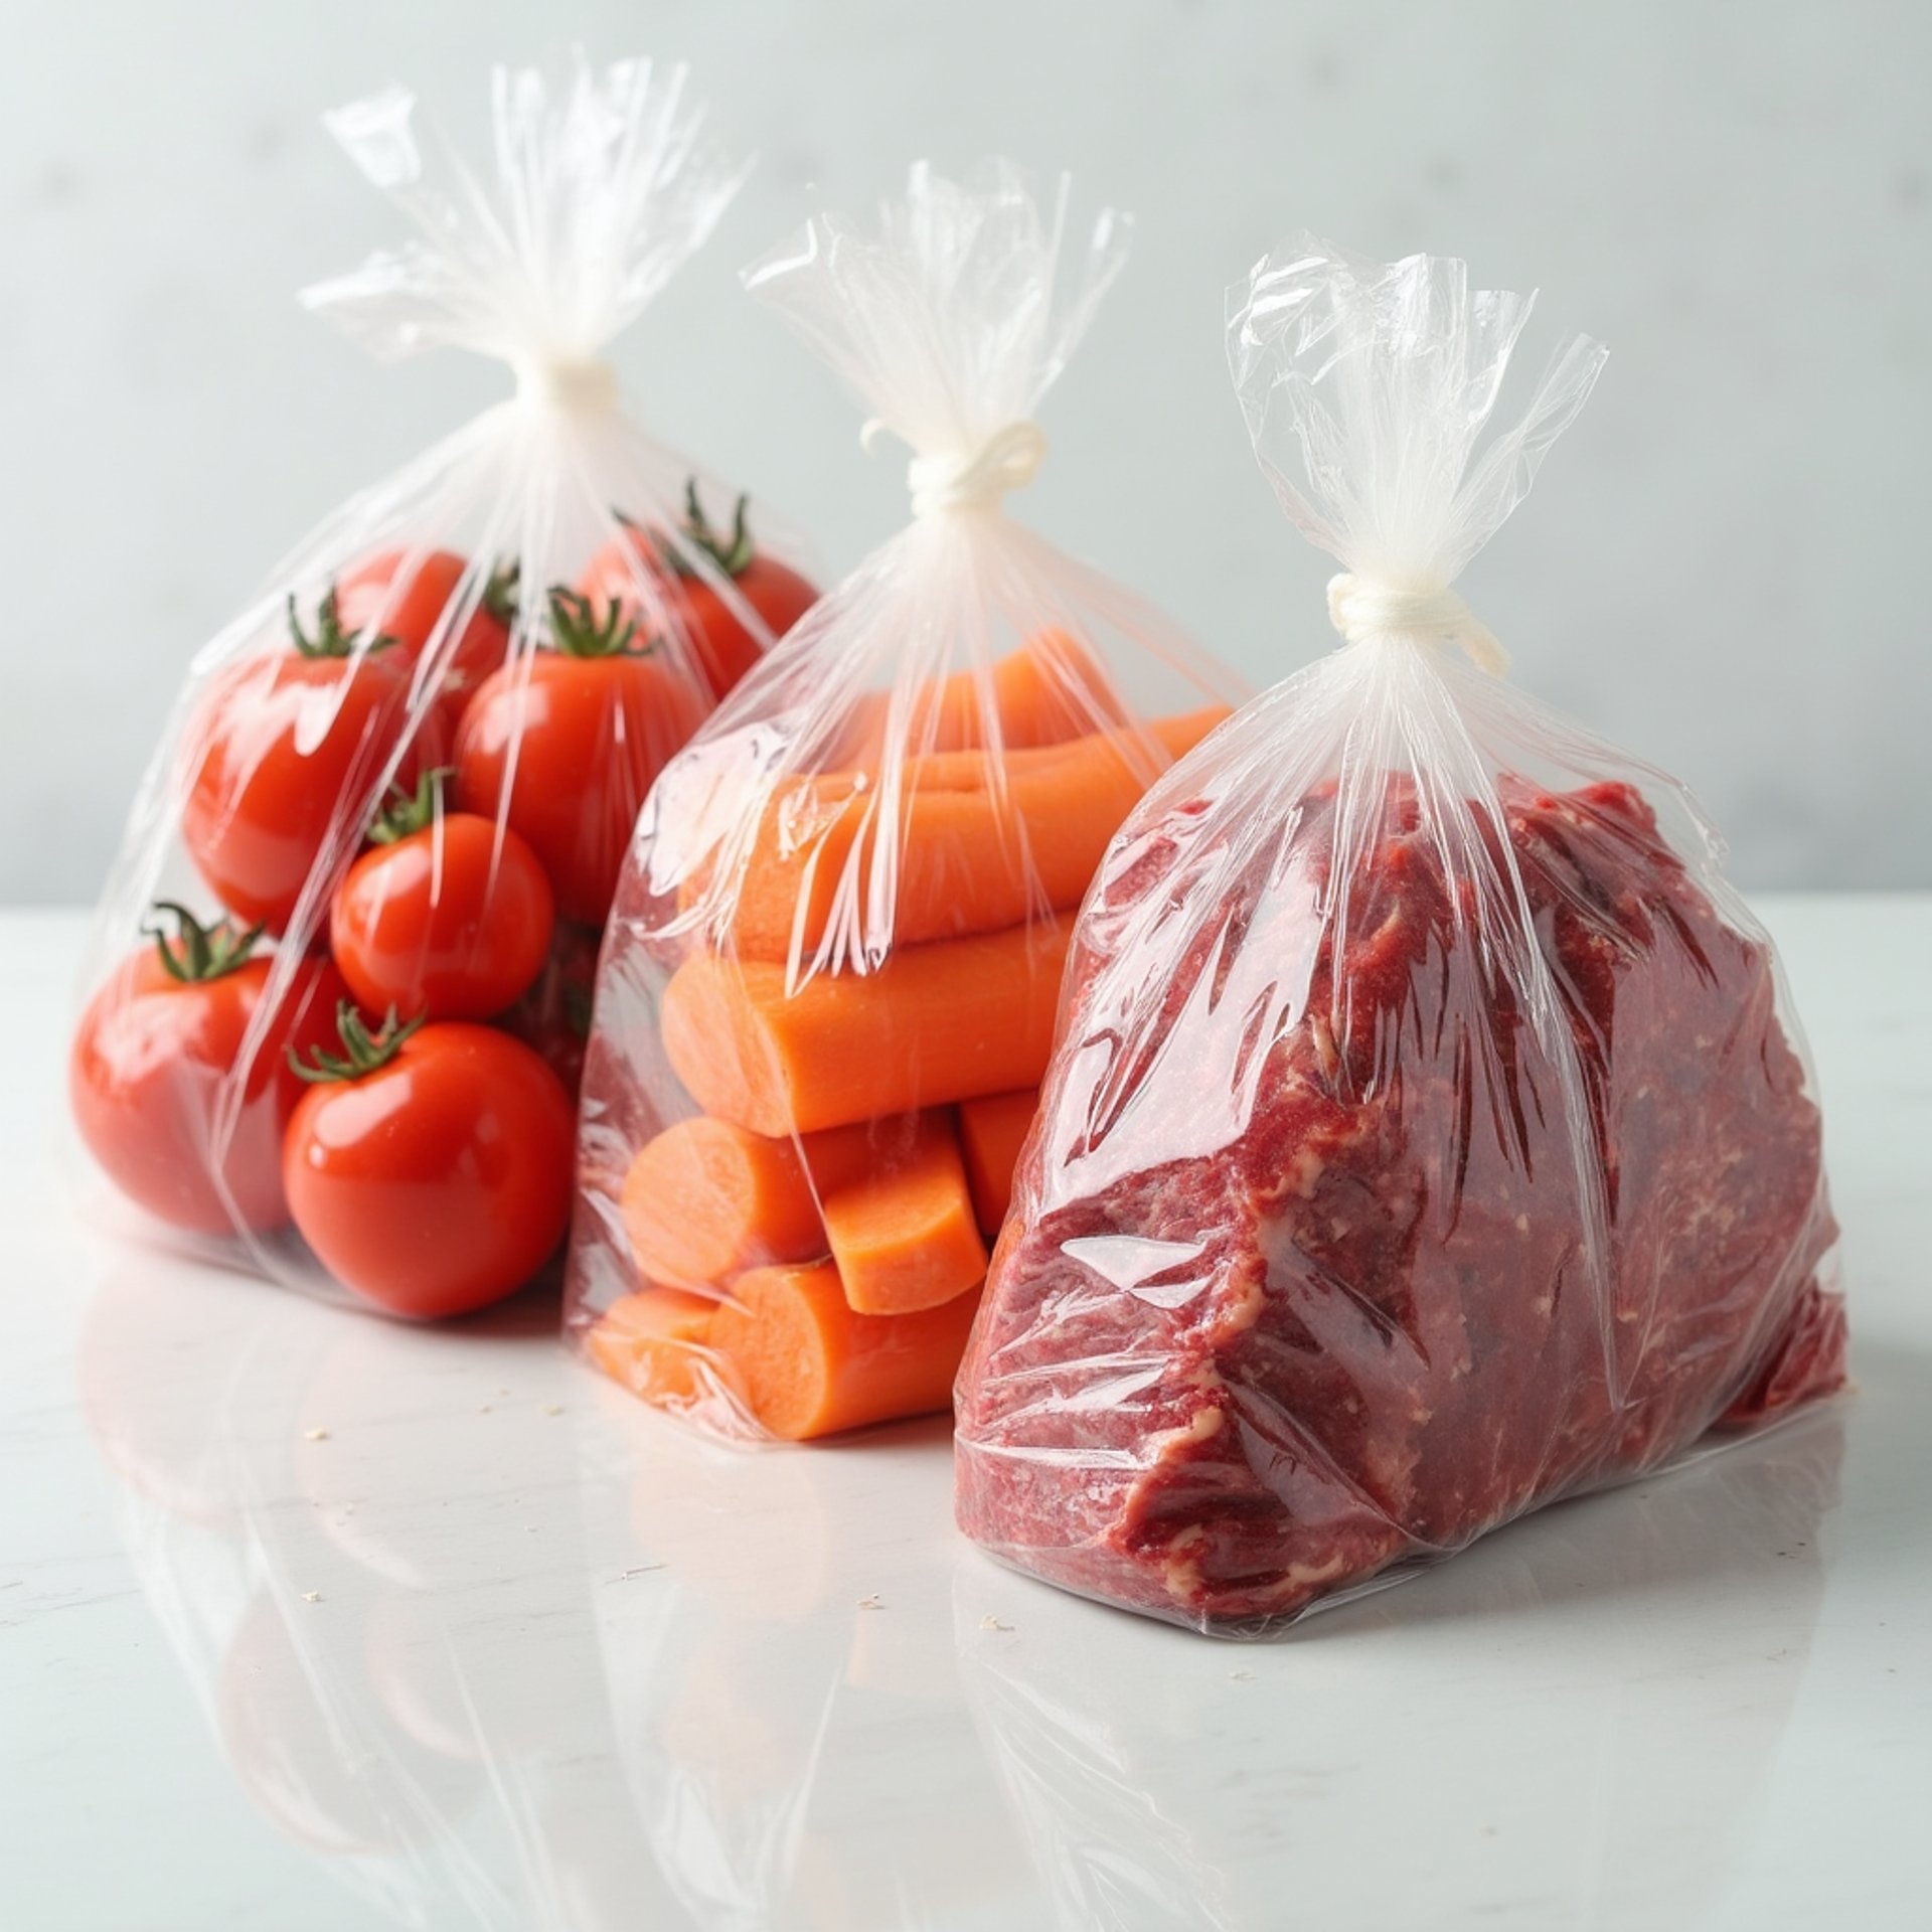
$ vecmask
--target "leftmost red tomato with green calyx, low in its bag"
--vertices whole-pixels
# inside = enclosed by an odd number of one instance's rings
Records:
[[[336,1037],[348,987],[327,960],[298,966],[242,1076],[228,1146],[216,1150],[216,1113],[272,960],[253,958],[226,920],[203,929],[178,916],[180,937],[124,960],[81,1016],[68,1061],[73,1119],[108,1179],[162,1221],[207,1233],[282,1227],[282,1130],[301,1099],[288,1049]]]

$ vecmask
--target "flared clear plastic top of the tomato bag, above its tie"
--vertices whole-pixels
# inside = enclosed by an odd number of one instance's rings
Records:
[[[495,182],[479,180],[415,95],[390,87],[325,116],[350,158],[419,230],[303,290],[384,361],[464,348],[537,386],[595,396],[603,346],[717,226],[744,182],[705,128],[684,66],[620,60],[568,79],[497,68]],[[570,400],[564,396],[564,400]]]

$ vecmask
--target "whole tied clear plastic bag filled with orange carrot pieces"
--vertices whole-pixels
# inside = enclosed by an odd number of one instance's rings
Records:
[[[568,1321],[717,1434],[947,1406],[1072,914],[1236,696],[1003,506],[1124,251],[1065,182],[920,166],[746,272],[912,452],[912,522],[667,767],[599,968]]]

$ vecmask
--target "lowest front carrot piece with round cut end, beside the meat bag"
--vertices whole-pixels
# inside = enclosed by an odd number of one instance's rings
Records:
[[[804,1441],[945,1408],[978,1300],[862,1316],[829,1262],[753,1267],[719,1308],[711,1341],[752,1414],[773,1435]]]

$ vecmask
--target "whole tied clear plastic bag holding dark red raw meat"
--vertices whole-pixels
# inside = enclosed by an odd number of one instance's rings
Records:
[[[1841,1385],[1818,1105],[1685,790],[1451,587],[1575,417],[1530,301],[1300,238],[1236,292],[1347,639],[1142,800],[958,1383],[958,1520],[1258,1634]]]

